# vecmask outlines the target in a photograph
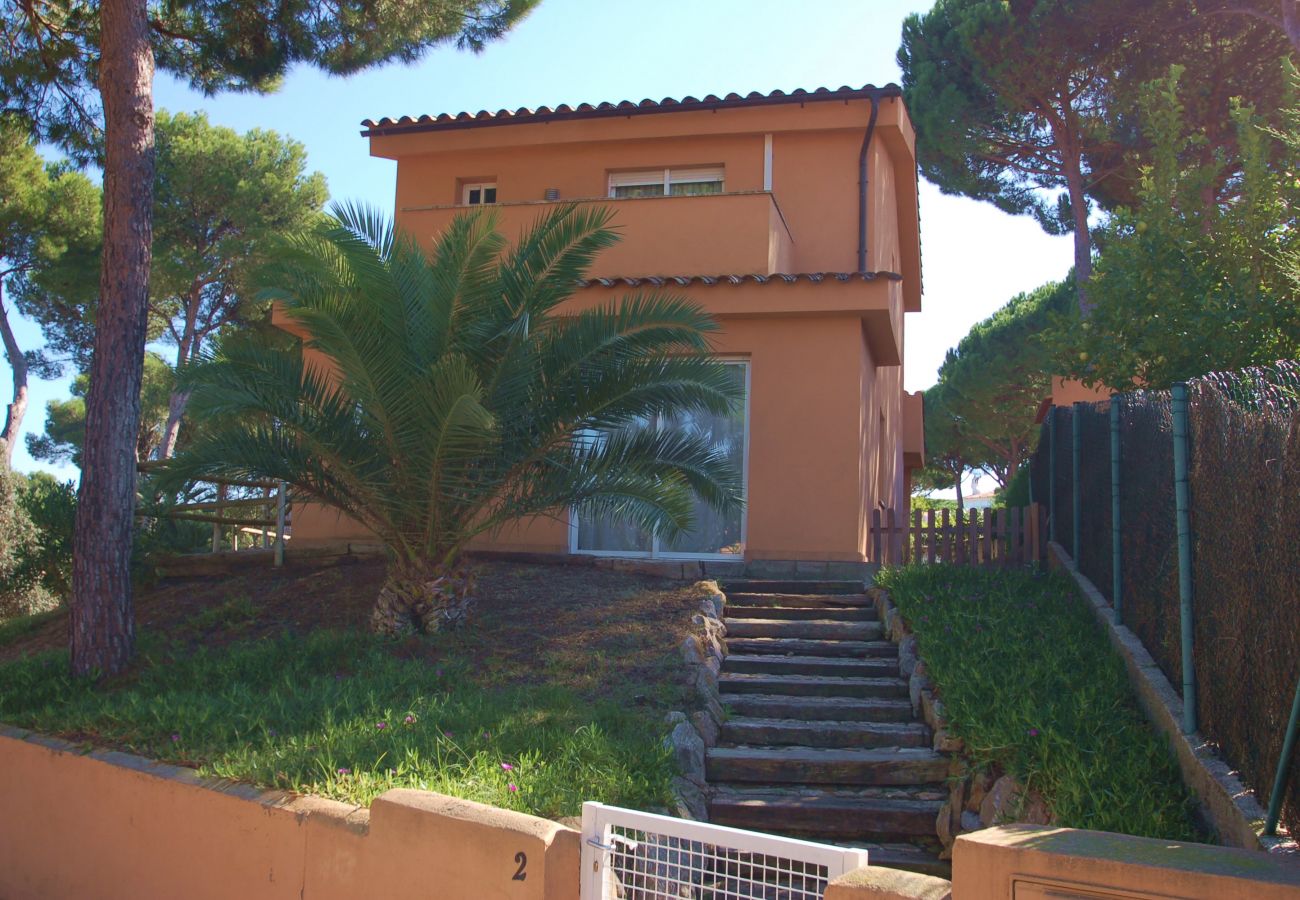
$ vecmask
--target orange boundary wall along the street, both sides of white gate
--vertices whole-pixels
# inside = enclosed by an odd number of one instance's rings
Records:
[[[5,900],[578,897],[580,834],[549,819],[426,791],[369,809],[264,792],[5,726],[0,809]],[[953,882],[866,866],[826,896],[1294,900],[1288,857],[1013,825],[958,836]]]

